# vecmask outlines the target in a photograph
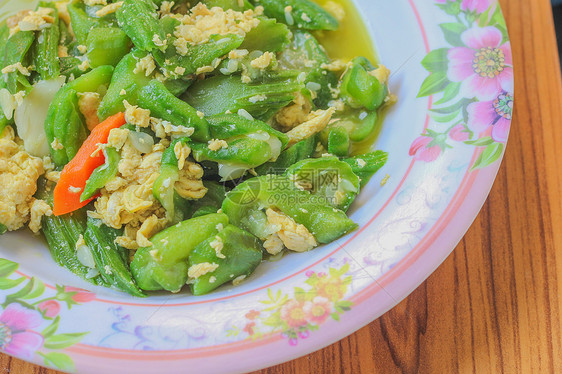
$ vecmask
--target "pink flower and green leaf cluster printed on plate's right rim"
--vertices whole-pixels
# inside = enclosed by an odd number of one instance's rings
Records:
[[[499,160],[513,115],[513,59],[505,21],[491,0],[436,0],[455,22],[440,24],[450,45],[423,60],[430,72],[418,97],[437,96],[432,126],[410,146],[416,160],[434,162],[462,144],[478,147],[472,169]]]

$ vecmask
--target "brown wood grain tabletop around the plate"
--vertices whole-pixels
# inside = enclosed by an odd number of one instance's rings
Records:
[[[549,0],[503,0],[514,123],[491,195],[396,308],[275,373],[562,373],[562,83]],[[126,372],[126,371],[124,371]],[[0,355],[0,374],[54,374]]]

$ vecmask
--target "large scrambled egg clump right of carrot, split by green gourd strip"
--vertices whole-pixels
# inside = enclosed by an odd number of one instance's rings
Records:
[[[102,189],[94,203],[96,211],[89,214],[108,226],[125,226],[124,236],[117,238],[117,244],[132,250],[150,247],[149,238],[168,223],[166,211],[154,197],[152,189],[160,176],[162,154],[169,140],[163,139],[154,145],[152,152],[142,154],[129,140],[128,130],[114,129],[110,132],[108,145],[121,149],[119,172]],[[185,160],[191,152],[189,147],[177,147],[174,152],[179,155],[182,166],[176,191],[184,198],[202,198],[207,193],[202,181],[203,169]]]

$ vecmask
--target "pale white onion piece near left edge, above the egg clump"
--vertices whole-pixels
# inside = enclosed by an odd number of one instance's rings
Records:
[[[49,143],[44,128],[45,119],[49,105],[64,81],[64,77],[59,77],[38,82],[16,108],[14,119],[18,136],[23,140],[25,150],[32,156],[49,155]]]

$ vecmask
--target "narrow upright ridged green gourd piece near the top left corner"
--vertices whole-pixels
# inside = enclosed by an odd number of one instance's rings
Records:
[[[51,27],[37,33],[33,45],[33,63],[42,80],[57,78],[60,75],[59,42],[61,37],[59,12],[54,3],[39,2],[39,7],[53,10],[54,22]]]

